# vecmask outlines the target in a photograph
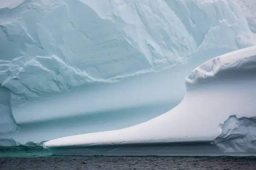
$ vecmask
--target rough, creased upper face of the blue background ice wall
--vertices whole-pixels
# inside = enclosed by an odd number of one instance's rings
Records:
[[[0,84],[29,99],[255,45],[247,1],[9,0],[0,6]]]

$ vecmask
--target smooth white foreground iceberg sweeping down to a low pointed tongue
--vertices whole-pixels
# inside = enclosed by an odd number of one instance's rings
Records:
[[[58,138],[44,146],[55,155],[256,155],[255,85],[252,46],[194,69],[180,104],[157,118],[121,130]]]

